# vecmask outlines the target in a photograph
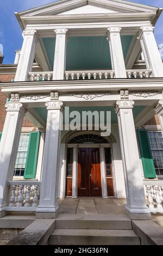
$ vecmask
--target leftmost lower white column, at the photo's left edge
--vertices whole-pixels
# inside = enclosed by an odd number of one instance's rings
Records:
[[[26,113],[22,103],[7,103],[7,115],[0,143],[0,217],[4,215],[4,206],[8,204],[9,186],[7,182],[14,175],[15,161],[20,140],[23,117]]]

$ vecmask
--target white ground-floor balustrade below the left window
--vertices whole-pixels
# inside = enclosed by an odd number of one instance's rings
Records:
[[[41,181],[9,181],[9,205],[5,211],[35,211],[39,205]]]

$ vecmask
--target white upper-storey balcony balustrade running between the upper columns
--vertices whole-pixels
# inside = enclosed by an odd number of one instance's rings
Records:
[[[147,69],[126,70],[127,78],[149,78],[152,77],[152,71]],[[29,72],[30,81],[51,81],[53,71],[47,72]],[[114,70],[71,70],[65,71],[65,80],[100,80],[114,79]]]

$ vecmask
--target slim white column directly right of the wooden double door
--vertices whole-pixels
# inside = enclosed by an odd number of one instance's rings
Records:
[[[108,198],[108,190],[106,184],[106,168],[105,168],[105,149],[99,148],[100,163],[101,163],[101,182],[102,182],[102,197]]]

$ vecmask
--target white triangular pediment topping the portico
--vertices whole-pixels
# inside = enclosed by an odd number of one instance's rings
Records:
[[[158,8],[136,4],[124,0],[61,0],[42,7],[22,11],[20,16],[53,16],[142,13],[156,11]]]

